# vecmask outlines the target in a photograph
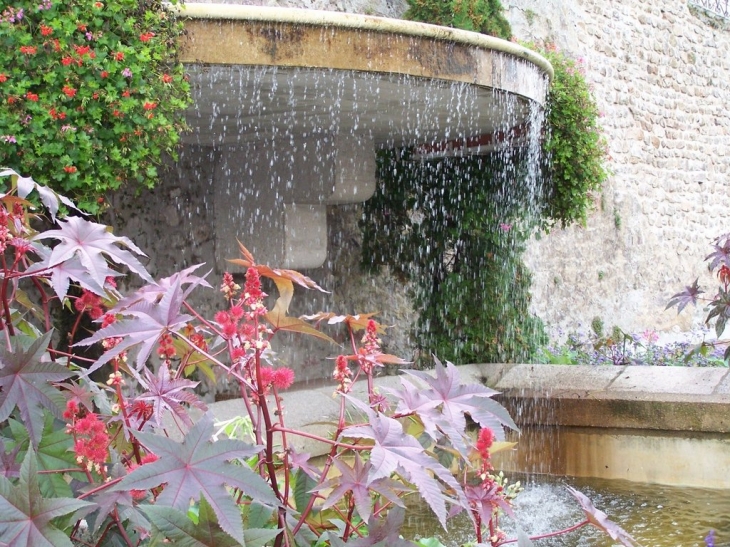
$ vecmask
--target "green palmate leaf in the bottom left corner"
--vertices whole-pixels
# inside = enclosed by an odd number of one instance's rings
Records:
[[[0,543],[15,547],[71,547],[68,536],[51,521],[91,505],[73,498],[43,498],[35,453],[28,450],[17,485],[0,476]]]

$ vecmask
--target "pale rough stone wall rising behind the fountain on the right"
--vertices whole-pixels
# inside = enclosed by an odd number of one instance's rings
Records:
[[[504,4],[520,39],[583,61],[613,173],[585,227],[530,246],[535,312],[553,331],[696,328],[701,310],[664,308],[695,277],[716,283],[703,258],[728,231],[730,31],[677,0]]]

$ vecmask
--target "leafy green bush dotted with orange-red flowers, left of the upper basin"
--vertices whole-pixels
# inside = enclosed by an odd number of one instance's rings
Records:
[[[181,32],[158,0],[7,7],[0,16],[0,165],[33,173],[90,211],[126,182],[152,186],[161,155],[175,157],[189,104],[176,59]]]

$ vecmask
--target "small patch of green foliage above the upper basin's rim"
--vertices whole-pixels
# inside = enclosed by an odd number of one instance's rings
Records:
[[[406,19],[512,38],[499,0],[408,0]]]

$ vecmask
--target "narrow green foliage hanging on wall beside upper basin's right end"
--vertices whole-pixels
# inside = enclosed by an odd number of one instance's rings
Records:
[[[547,225],[583,223],[594,193],[608,177],[607,151],[598,118],[600,112],[585,80],[582,62],[555,47],[540,51],[553,66],[547,100],[547,137],[543,143],[543,178]]]

